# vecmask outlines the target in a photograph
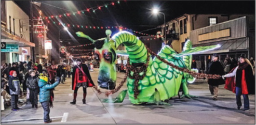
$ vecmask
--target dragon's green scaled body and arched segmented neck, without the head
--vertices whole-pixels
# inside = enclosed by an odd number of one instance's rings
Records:
[[[146,62],[147,50],[144,43],[137,39],[136,36],[123,33],[113,36],[112,39],[116,42],[116,46],[123,43],[126,46],[127,54],[129,55],[131,63]],[[160,52],[159,56],[165,58],[169,62],[179,67],[186,67],[181,57],[175,57],[177,53],[165,46]],[[132,74],[133,72],[131,72]],[[134,99],[133,95],[133,79],[128,78],[127,88],[129,100],[133,104],[140,104],[143,102],[152,102],[155,88],[159,91],[161,100],[169,99],[176,96],[180,89],[182,77],[184,73],[171,68],[164,62],[157,58],[150,58],[149,67],[147,67],[146,76],[139,81],[139,96]]]

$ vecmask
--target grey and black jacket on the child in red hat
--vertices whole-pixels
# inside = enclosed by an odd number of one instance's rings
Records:
[[[20,92],[19,78],[10,76],[8,84],[9,84],[9,88],[10,88],[10,95],[19,95],[19,92]]]

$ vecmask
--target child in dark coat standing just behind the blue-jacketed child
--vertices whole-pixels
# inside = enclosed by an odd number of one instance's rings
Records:
[[[26,80],[26,86],[28,86],[29,91],[30,91],[30,102],[32,104],[32,108],[37,108],[37,94],[39,92],[39,87],[38,87],[38,81],[39,77],[36,76],[35,71],[32,70],[29,72],[30,76],[28,77],[28,80]]]

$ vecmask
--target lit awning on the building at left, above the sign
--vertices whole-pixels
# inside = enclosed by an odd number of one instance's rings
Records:
[[[19,47],[35,47],[35,43],[27,41],[10,32],[10,30],[4,26],[1,26],[1,42],[6,42],[7,44],[18,44]]]

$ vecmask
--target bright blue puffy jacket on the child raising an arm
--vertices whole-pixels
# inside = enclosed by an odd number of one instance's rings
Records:
[[[50,101],[50,89],[56,87],[59,84],[59,82],[55,82],[53,84],[48,84],[44,80],[39,80],[38,86],[39,86],[39,102],[45,102]]]

